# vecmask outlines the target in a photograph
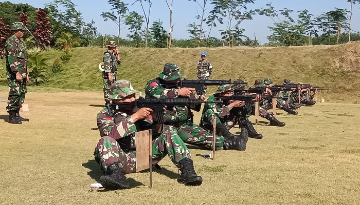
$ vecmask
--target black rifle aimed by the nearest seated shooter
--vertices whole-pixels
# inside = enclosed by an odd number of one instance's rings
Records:
[[[108,104],[107,109],[109,113],[113,115],[120,108],[150,108],[155,112],[157,122],[159,124],[165,122],[164,118],[164,106],[189,106],[199,105],[201,103],[210,103],[209,101],[203,101],[201,99],[192,98],[143,98],[139,97],[132,103],[118,103]],[[212,102],[211,102],[212,103]],[[222,101],[215,101],[215,103],[222,103]]]

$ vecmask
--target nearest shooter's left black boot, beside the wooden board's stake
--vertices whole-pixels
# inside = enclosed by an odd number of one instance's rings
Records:
[[[117,163],[110,164],[106,169],[106,174],[100,177],[101,185],[110,190],[129,189],[129,182],[121,173]]]

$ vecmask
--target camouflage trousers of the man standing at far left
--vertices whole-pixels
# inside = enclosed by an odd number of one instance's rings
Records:
[[[19,82],[15,79],[8,79],[9,81],[9,97],[8,97],[8,106],[6,107],[6,112],[16,111],[22,107],[22,104],[25,100],[26,94],[26,78],[23,81]]]

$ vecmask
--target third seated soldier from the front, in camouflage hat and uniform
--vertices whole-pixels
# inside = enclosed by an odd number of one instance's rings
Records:
[[[221,85],[215,94],[208,98],[208,101],[220,100],[221,98],[231,97],[233,87],[231,85]],[[242,101],[239,100],[225,100],[222,99],[223,103],[206,103],[204,105],[203,114],[200,120],[200,127],[208,130],[212,129],[213,119],[216,120],[216,134],[221,134],[225,139],[229,139],[232,144],[230,147],[235,147],[237,150],[245,151],[246,142],[248,140],[248,133],[245,128],[241,129],[240,136],[232,134],[226,126],[229,122],[231,125],[236,123],[236,119],[233,115],[230,115],[230,111],[235,108],[239,108],[243,105]]]

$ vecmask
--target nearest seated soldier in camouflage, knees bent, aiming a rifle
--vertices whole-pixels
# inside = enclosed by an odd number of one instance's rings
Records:
[[[135,101],[135,92],[129,80],[117,80],[109,97],[115,104],[132,103]],[[179,183],[201,185],[203,179],[196,175],[190,151],[175,128],[156,124],[156,116],[152,116],[150,108],[127,107],[109,111],[107,107],[97,115],[101,138],[94,152],[95,160],[106,172],[100,177],[100,182],[105,188],[129,189],[129,183],[123,173],[136,172],[135,132],[148,129],[152,129],[153,137],[152,162],[156,164],[168,155],[182,172],[177,178]]]

